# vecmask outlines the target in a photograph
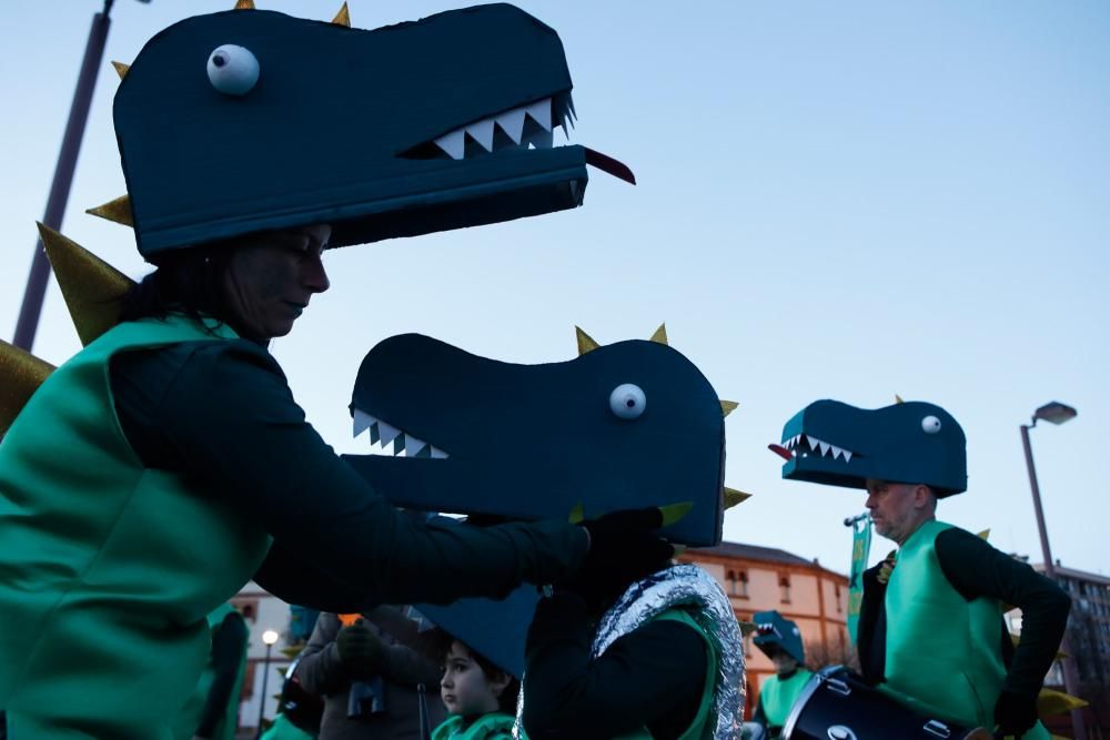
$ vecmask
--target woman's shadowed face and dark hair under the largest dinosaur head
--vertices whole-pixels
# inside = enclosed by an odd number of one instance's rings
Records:
[[[330,285],[321,253],[329,224],[251,234],[236,246],[223,275],[233,326],[253,339],[285,336],[313,293]]]

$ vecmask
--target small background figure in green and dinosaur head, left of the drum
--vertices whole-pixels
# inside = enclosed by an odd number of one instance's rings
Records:
[[[777,738],[813,672],[806,669],[805,646],[798,626],[777,611],[760,611],[754,642],[775,663],[775,675],[759,685],[759,701],[753,721]]]

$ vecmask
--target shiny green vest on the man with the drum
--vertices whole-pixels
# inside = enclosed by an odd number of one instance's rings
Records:
[[[963,599],[937,559],[937,535],[951,525],[927,521],[898,550],[886,592],[886,682],[880,689],[916,711],[968,727],[993,727],[1006,679],[1002,606]],[[1025,740],[1047,739],[1038,723]]]

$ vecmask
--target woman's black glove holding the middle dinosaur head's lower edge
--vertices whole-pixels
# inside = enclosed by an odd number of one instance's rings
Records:
[[[589,550],[582,567],[556,589],[573,591],[598,611],[633,581],[666,567],[674,548],[653,530],[663,526],[658,508],[613,511],[582,526],[589,533]]]

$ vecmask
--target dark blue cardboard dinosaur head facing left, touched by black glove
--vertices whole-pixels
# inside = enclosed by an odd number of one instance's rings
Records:
[[[664,533],[712,546],[720,541],[726,493],[743,496],[723,487],[720,399],[659,341],[514,365],[426,336],[395,336],[363,361],[351,410],[355,436],[366,433],[404,457],[347,460],[406,508],[567,519],[688,503]]]

